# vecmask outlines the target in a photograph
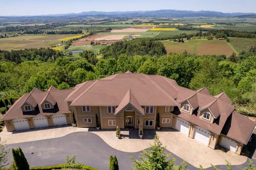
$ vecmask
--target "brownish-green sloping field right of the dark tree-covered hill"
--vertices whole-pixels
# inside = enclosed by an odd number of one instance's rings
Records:
[[[226,55],[230,56],[234,50],[223,40],[189,40],[185,43],[177,43],[170,40],[161,41],[167,51],[183,53],[187,50],[196,55]]]

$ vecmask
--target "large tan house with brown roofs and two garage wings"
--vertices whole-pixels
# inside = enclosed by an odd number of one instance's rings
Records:
[[[118,73],[86,81],[74,89],[34,88],[2,117],[8,131],[68,124],[101,129],[160,126],[177,129],[213,149],[223,146],[240,154],[256,123],[237,113],[225,93],[211,96],[207,88],[193,91],[175,80],[142,73]]]

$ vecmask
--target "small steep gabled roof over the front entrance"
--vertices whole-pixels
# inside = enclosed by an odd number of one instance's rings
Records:
[[[136,97],[131,93],[130,89],[116,108],[115,115],[122,114],[127,108],[134,109],[138,115],[145,115],[144,109],[140,106],[139,102],[137,101]]]

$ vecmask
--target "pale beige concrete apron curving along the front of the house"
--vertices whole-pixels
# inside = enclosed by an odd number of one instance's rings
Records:
[[[89,131],[89,132],[88,132]],[[78,128],[78,127],[61,127],[61,128],[47,128],[40,130],[29,130],[20,133],[7,132],[3,129],[0,133],[1,144],[18,144],[31,141],[54,139],[64,137],[74,132],[94,133],[99,136],[108,146],[123,152],[139,152],[146,149],[153,143],[155,134],[160,136],[160,140],[166,149],[181,159],[199,168],[202,165],[208,168],[211,165],[225,165],[225,160],[228,160],[231,165],[240,165],[247,161],[247,157],[237,155],[231,151],[224,153],[221,150],[213,150],[204,144],[191,139],[181,132],[172,130],[171,128],[162,128],[160,131],[147,130],[144,132],[144,139],[138,139],[136,129],[121,130],[121,138],[115,137],[115,130],[99,130],[95,128]],[[147,134],[147,135],[146,135]],[[79,141],[72,141],[77,144]]]

